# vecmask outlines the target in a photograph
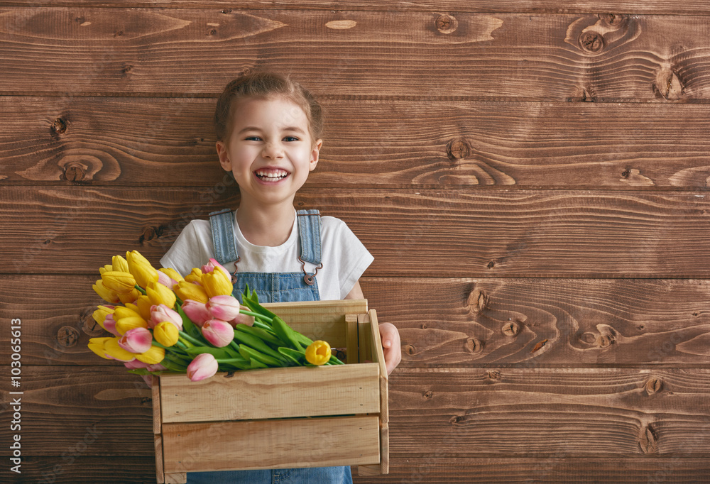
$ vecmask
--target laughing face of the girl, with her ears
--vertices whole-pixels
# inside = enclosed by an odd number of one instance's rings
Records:
[[[293,204],[322,145],[313,143],[306,114],[283,97],[243,99],[234,106],[233,121],[229,146],[217,141],[217,154],[239,184],[242,202],[251,197],[261,204]]]

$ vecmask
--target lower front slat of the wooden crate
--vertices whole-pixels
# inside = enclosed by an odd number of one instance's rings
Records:
[[[346,466],[380,460],[376,415],[165,424],[163,436],[166,473]]]

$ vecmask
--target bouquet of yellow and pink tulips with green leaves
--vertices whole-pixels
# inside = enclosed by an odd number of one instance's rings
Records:
[[[93,287],[109,304],[99,306],[94,319],[114,336],[92,338],[89,348],[146,382],[163,371],[197,381],[218,370],[343,364],[327,342],[308,339],[262,307],[249,287],[239,304],[217,260],[182,277],[170,268],[155,270],[132,251],[114,255],[99,272]]]

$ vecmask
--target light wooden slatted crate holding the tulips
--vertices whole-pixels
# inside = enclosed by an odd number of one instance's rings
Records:
[[[264,304],[311,339],[346,348],[346,365],[153,378],[158,483],[186,473],[358,466],[388,473],[387,372],[366,299]]]

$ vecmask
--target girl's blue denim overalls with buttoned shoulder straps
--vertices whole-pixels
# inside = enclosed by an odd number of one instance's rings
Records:
[[[214,258],[222,265],[239,263],[234,239],[234,212],[229,210],[216,211],[209,214],[209,224],[212,227],[212,242],[214,243]],[[317,210],[299,210],[296,212],[298,221],[298,238],[300,243],[300,273],[239,273],[234,270],[232,295],[241,302],[244,287],[249,284],[255,290],[259,302],[295,302],[319,301],[318,283],[315,275],[322,267],[320,214]],[[315,264],[315,273],[305,271],[305,262]],[[239,449],[235,449],[239,452]],[[217,471],[187,473],[187,484],[351,484],[352,477],[349,466],[316,467],[295,469],[260,469],[256,471]]]

